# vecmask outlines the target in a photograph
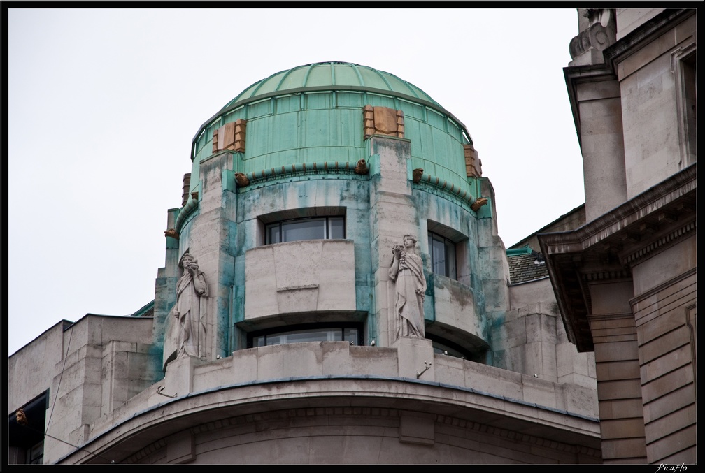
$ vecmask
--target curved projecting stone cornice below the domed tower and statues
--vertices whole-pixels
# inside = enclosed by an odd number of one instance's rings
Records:
[[[360,396],[358,392],[361,384],[369,385],[369,389],[364,390],[367,393],[365,396]],[[277,386],[278,389],[275,393],[266,389],[266,386]],[[513,399],[498,393],[400,377],[289,377],[226,384],[168,399],[111,424],[106,431],[93,436],[57,463],[106,463],[111,459],[118,462],[129,462],[128,459],[138,461],[163,448],[162,439],[185,429],[193,433],[209,431],[241,422],[252,422],[257,416],[278,416],[278,412],[308,415],[311,399],[316,401],[317,410],[353,410],[349,398],[355,398],[357,408],[398,415],[395,406],[398,405],[400,393],[403,393],[404,410],[414,412],[417,410],[415,406],[423,404],[426,412],[429,405],[436,406],[431,409],[431,413],[437,416],[436,422],[446,422],[445,417],[450,415],[450,409],[455,412],[453,418],[467,420],[465,428],[491,428],[494,435],[508,438],[520,435],[518,431],[515,434],[503,427],[511,420],[517,429],[528,431],[530,426],[532,431],[541,429],[544,432],[541,437],[532,435],[527,439],[522,438],[525,441],[548,442],[553,445],[567,433],[599,441],[599,419],[596,417]],[[361,404],[363,398],[366,405]],[[437,402],[441,399],[442,403]],[[144,447],[133,450],[133,446],[139,444]],[[570,450],[568,446],[564,448]],[[593,448],[586,448],[584,453],[594,451]]]

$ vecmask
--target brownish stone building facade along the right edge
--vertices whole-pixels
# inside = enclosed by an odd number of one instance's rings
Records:
[[[539,234],[596,362],[604,462],[697,462],[695,9],[579,9],[564,69],[585,224]]]

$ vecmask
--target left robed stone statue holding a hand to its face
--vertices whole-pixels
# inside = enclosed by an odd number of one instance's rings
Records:
[[[195,356],[205,359],[208,284],[196,259],[189,253],[184,253],[179,266],[183,267],[183,276],[176,284],[176,304],[169,313],[178,320],[176,358]]]

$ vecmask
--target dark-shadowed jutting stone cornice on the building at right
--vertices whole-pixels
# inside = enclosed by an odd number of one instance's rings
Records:
[[[589,284],[631,277],[631,267],[697,231],[697,163],[570,232],[539,234],[568,339],[594,349]]]

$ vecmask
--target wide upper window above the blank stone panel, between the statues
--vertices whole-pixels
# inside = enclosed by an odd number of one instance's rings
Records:
[[[345,238],[345,217],[312,217],[283,220],[265,227],[264,244],[299,240],[326,240]]]

